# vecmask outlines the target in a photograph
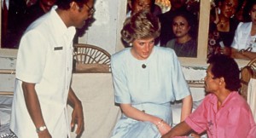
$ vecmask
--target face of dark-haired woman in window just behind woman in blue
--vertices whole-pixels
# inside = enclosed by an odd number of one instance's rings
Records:
[[[190,26],[183,16],[177,16],[172,21],[172,31],[176,37],[189,35]]]

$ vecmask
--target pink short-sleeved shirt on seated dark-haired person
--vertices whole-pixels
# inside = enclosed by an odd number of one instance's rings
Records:
[[[256,138],[256,124],[250,107],[236,91],[219,110],[217,97],[209,94],[185,122],[197,133],[207,130],[209,138]]]

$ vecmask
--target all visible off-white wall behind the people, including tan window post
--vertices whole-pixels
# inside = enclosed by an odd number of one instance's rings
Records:
[[[79,43],[94,44],[102,49],[106,49],[111,55],[124,49],[120,41],[120,29],[123,26],[126,12],[127,0],[96,0],[94,18],[96,21],[89,27],[83,37],[79,37]],[[200,28],[207,28],[207,20],[210,8],[209,1],[201,1],[201,21]],[[200,29],[198,58],[179,58],[183,66],[185,78],[188,80],[201,80],[205,75],[206,51],[201,49],[201,45],[207,44],[207,29]],[[202,32],[205,31],[205,32]],[[204,52],[202,52],[204,51]],[[0,69],[15,69],[15,57],[17,50],[0,49]],[[245,66],[248,61],[237,60],[240,66]],[[3,78],[0,79],[0,81]],[[3,80],[4,81],[4,80]],[[1,85],[0,85],[1,86]]]

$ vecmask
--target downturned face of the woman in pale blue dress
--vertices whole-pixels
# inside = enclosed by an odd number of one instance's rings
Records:
[[[132,42],[131,54],[137,60],[146,60],[154,48],[154,37],[146,39],[135,39]]]

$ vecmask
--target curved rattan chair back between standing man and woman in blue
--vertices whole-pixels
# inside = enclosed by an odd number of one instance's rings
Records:
[[[74,72],[110,72],[111,55],[95,45],[73,45]]]

